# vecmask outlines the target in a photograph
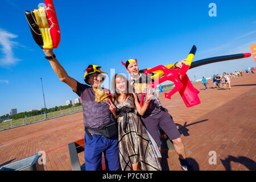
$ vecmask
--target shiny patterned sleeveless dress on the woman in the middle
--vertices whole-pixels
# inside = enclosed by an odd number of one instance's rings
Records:
[[[161,166],[155,148],[141,120],[134,111],[134,98],[128,96],[125,105],[117,107],[119,160],[123,171],[131,171],[131,164],[139,162],[143,171],[158,171]]]

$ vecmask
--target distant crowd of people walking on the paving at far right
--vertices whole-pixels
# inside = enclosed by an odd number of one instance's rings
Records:
[[[244,71],[247,75],[249,75],[249,72],[251,73],[255,73],[255,68],[251,67],[249,69],[245,69]],[[213,75],[212,77],[212,81],[213,81],[213,89],[214,88],[223,88],[224,90],[227,89],[231,89],[231,85],[230,82],[233,78],[237,78],[243,76],[243,71],[236,71],[236,72],[232,72],[232,73],[223,73],[223,75]],[[205,90],[208,89],[207,85],[209,85],[209,83],[207,82],[207,79],[203,76],[202,78],[202,82],[201,82],[204,86],[205,86]]]

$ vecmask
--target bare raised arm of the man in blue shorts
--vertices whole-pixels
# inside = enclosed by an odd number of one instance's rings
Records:
[[[53,53],[53,49],[43,49],[44,53],[46,54],[46,56],[52,56]],[[55,73],[57,74],[57,76],[60,78],[60,81],[65,82],[66,84],[68,84],[71,89],[76,92],[77,90],[77,81],[68,76],[67,72],[65,71],[65,69],[60,65],[59,61],[57,61],[57,59],[50,59],[49,63],[51,64],[51,67],[53,69],[53,71],[55,71]]]

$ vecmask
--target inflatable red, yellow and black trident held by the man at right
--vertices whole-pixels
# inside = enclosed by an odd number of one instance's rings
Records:
[[[175,88],[171,90],[169,93],[164,93],[166,98],[171,99],[171,96],[179,91],[180,96],[183,98],[183,101],[187,107],[192,107],[195,105],[200,104],[200,100],[198,97],[199,91],[193,87],[191,81],[189,80],[188,76],[185,74],[188,69],[196,68],[201,65],[210,64],[210,63],[217,63],[220,61],[227,61],[227,60],[234,60],[234,59],[242,59],[245,57],[250,57],[251,53],[238,53],[234,55],[225,55],[225,56],[217,56],[217,57],[209,57],[207,59],[193,61],[193,57],[196,53],[196,46],[194,45],[189,52],[187,57],[188,61],[185,61],[188,65],[183,64],[181,69],[170,69],[174,66],[174,64],[170,65],[159,65],[155,68],[147,68],[142,69],[140,72],[145,73],[153,73],[151,76],[153,81],[158,81],[157,84],[161,84],[164,81],[170,80],[173,81],[175,84]],[[160,78],[158,80],[158,78]],[[152,88],[156,88],[156,82],[151,82]]]

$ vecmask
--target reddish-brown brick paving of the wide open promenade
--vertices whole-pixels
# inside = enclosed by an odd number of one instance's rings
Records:
[[[243,75],[231,80],[231,90],[211,89],[212,80],[208,90],[195,84],[201,100],[195,107],[185,107],[179,93],[171,100],[159,94],[197,170],[256,170],[256,74]],[[67,144],[80,138],[84,138],[82,113],[0,131],[0,166],[45,151],[45,170],[71,170]],[[216,164],[209,164],[210,151],[216,152]],[[182,170],[175,151],[162,152],[165,170]],[[84,152],[79,159],[84,164]]]

